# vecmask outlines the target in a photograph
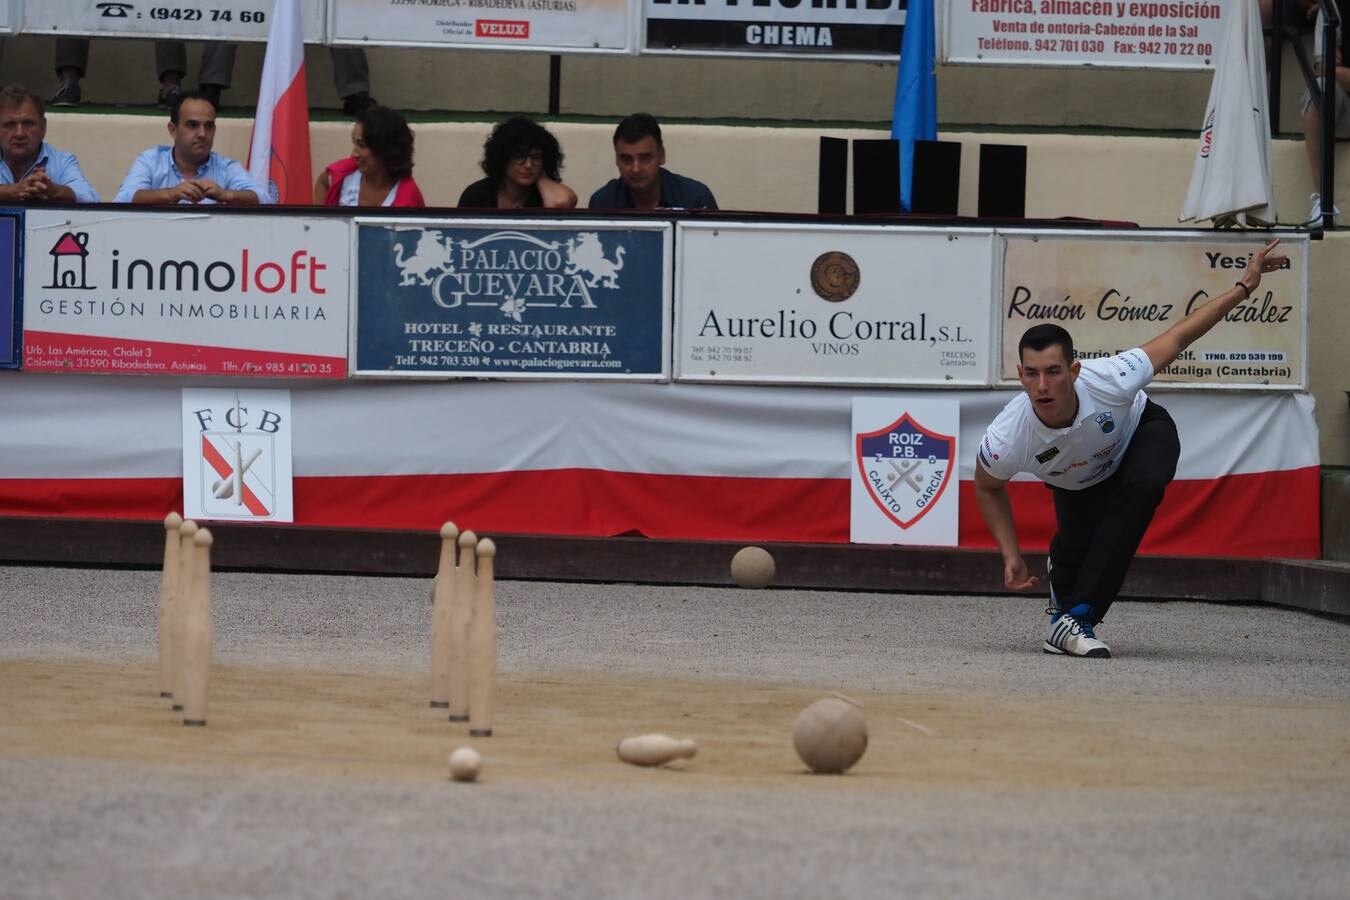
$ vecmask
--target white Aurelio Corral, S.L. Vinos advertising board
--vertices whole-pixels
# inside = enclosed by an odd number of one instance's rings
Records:
[[[678,381],[988,385],[994,232],[680,224]]]

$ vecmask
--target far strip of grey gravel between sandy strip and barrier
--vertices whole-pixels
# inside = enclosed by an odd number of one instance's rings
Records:
[[[234,663],[420,669],[428,579],[213,576]],[[1262,606],[1122,602],[1108,664],[1040,652],[1044,598],[502,582],[504,672],[589,671],[855,690],[1350,698],[1350,623]],[[0,567],[0,658],[155,656],[158,575]],[[1065,684],[1065,679],[1071,684]]]

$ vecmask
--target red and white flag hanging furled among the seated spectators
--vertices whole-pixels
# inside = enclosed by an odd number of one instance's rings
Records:
[[[309,97],[300,0],[277,0],[258,85],[248,174],[278,204],[312,204]]]

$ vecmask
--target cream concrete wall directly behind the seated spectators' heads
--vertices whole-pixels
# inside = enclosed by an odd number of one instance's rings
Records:
[[[77,152],[105,200],[116,193],[131,159],[154,143],[167,142],[163,115],[49,113],[47,138]],[[251,119],[223,119],[216,148],[248,155]],[[418,123],[416,178],[432,205],[452,205],[464,185],[482,177],[478,161],[491,120]],[[563,179],[585,198],[614,177],[610,123],[549,124],[567,155]],[[706,181],[725,209],[815,212],[819,136],[879,138],[880,128],[771,128],[671,124],[666,127],[667,159],[676,171]],[[316,166],[350,151],[350,125],[312,125]],[[1191,179],[1195,142],[1181,138],[1131,138],[1057,134],[941,132],[961,143],[960,212],[973,216],[979,189],[979,146],[1027,146],[1027,216],[1112,219],[1141,225],[1173,227]],[[88,148],[97,147],[92,154]],[[1303,143],[1273,144],[1276,202],[1281,221],[1308,213],[1308,171]],[[1350,157],[1339,166],[1338,197],[1350,197]]]

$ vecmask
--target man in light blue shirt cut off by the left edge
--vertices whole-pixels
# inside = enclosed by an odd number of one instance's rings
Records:
[[[99,202],[76,158],[47,143],[42,97],[27,88],[0,90],[0,202]]]

